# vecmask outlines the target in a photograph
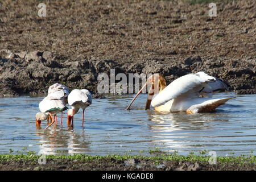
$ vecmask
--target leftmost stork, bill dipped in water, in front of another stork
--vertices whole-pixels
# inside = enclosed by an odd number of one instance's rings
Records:
[[[47,129],[55,122],[52,115],[55,115],[56,118],[57,113],[67,110],[68,107],[65,106],[62,100],[53,96],[47,96],[39,103],[39,109],[41,113],[36,113],[36,127],[40,127],[41,121],[46,120],[49,117],[51,123],[46,127]]]

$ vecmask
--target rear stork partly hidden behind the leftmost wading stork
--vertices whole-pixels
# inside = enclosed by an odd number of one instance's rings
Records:
[[[65,105],[68,103],[67,101],[68,94],[69,94],[69,89],[67,88],[67,86],[61,85],[59,83],[53,84],[48,88],[48,96],[52,96],[52,97],[63,100]],[[60,117],[61,125],[62,125],[62,117],[63,117],[63,112],[61,111],[61,117]],[[57,117],[55,117],[55,121],[57,124]]]

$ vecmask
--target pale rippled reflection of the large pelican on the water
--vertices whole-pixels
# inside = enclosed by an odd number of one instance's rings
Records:
[[[185,112],[166,113],[147,110],[148,129],[152,132],[152,145],[163,151],[191,150],[193,147],[207,146],[214,140],[216,121],[226,122],[225,112],[187,114]],[[213,138],[212,138],[213,137]],[[209,143],[207,144],[207,141]],[[204,145],[203,143],[206,142]],[[199,144],[200,143],[200,144]],[[197,149],[196,149],[197,150]],[[202,149],[204,150],[204,149]]]

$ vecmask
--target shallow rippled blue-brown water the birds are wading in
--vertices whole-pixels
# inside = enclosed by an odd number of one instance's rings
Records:
[[[256,154],[256,95],[220,93],[214,98],[235,97],[213,113],[156,113],[143,110],[146,94],[126,110],[133,96],[94,99],[75,115],[73,130],[63,125],[36,130],[35,114],[43,97],[0,98],[0,154],[149,154],[150,150],[177,154],[216,151],[217,155]]]

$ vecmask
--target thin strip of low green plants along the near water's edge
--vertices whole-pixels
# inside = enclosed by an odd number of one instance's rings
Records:
[[[41,155],[35,155],[33,152],[29,154],[4,154],[0,155],[0,162],[4,161],[26,161],[26,160],[38,160]],[[75,155],[46,155],[46,160],[102,160],[102,159],[115,159],[115,160],[127,160],[127,159],[148,159],[148,160],[183,160],[183,161],[192,161],[192,162],[208,162],[210,156],[198,156],[198,155],[176,155],[176,154],[160,154],[155,156],[142,156],[142,155],[84,155],[84,154],[75,154]],[[256,156],[218,156],[217,163],[238,163],[238,164],[255,164]]]

